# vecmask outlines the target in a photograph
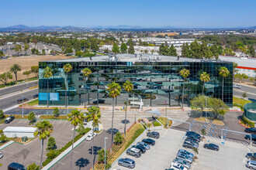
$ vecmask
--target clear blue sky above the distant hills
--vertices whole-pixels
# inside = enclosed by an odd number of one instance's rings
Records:
[[[1,0],[0,27],[256,26],[256,0]]]

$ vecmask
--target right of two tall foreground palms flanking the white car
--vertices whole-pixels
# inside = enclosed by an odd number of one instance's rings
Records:
[[[92,134],[94,134],[94,128],[96,124],[99,124],[99,119],[102,117],[99,107],[88,107],[88,112],[86,113],[86,118],[88,121],[92,121]],[[94,157],[94,138],[92,138],[92,158]],[[93,158],[92,169],[94,169],[95,159]]]

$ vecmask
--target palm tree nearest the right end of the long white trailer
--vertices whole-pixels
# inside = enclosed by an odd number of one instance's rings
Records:
[[[36,132],[34,135],[36,136],[39,134],[39,138],[41,140],[41,159],[40,159],[40,169],[42,168],[43,164],[43,141],[47,139],[47,137],[50,137],[50,133],[53,132],[53,124],[50,124],[50,121],[40,121],[36,124]]]

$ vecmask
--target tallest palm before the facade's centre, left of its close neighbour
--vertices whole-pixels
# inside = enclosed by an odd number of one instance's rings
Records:
[[[108,84],[108,88],[106,89],[109,91],[109,97],[112,97],[112,139],[111,139],[111,145],[113,144],[113,121],[114,121],[114,107],[115,107],[115,98],[120,95],[121,87],[118,83],[112,82]]]

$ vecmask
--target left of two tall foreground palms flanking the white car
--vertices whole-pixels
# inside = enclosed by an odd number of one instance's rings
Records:
[[[71,110],[71,113],[67,114],[67,121],[71,121],[71,124],[74,125],[74,133],[73,133],[73,143],[72,143],[72,150],[71,150],[71,170],[72,170],[72,158],[73,158],[73,148],[74,148],[74,134],[75,128],[82,124],[85,119],[85,115],[81,113],[79,110]]]

